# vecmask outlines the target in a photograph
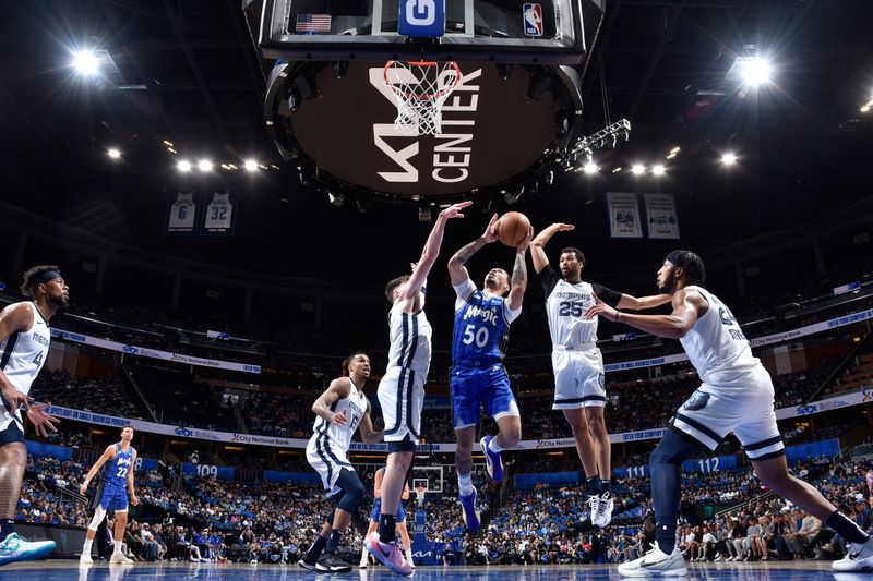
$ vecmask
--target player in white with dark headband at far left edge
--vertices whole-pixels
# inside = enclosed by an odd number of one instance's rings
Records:
[[[31,404],[31,384],[48,356],[48,322],[70,301],[70,288],[55,265],[35,266],[24,274],[21,292],[31,301],[13,303],[0,312],[0,565],[36,559],[55,550],[53,541],[31,543],[14,532],[13,519],[27,464],[24,420],[36,433],[57,432],[58,422],[46,413],[47,403]]]

